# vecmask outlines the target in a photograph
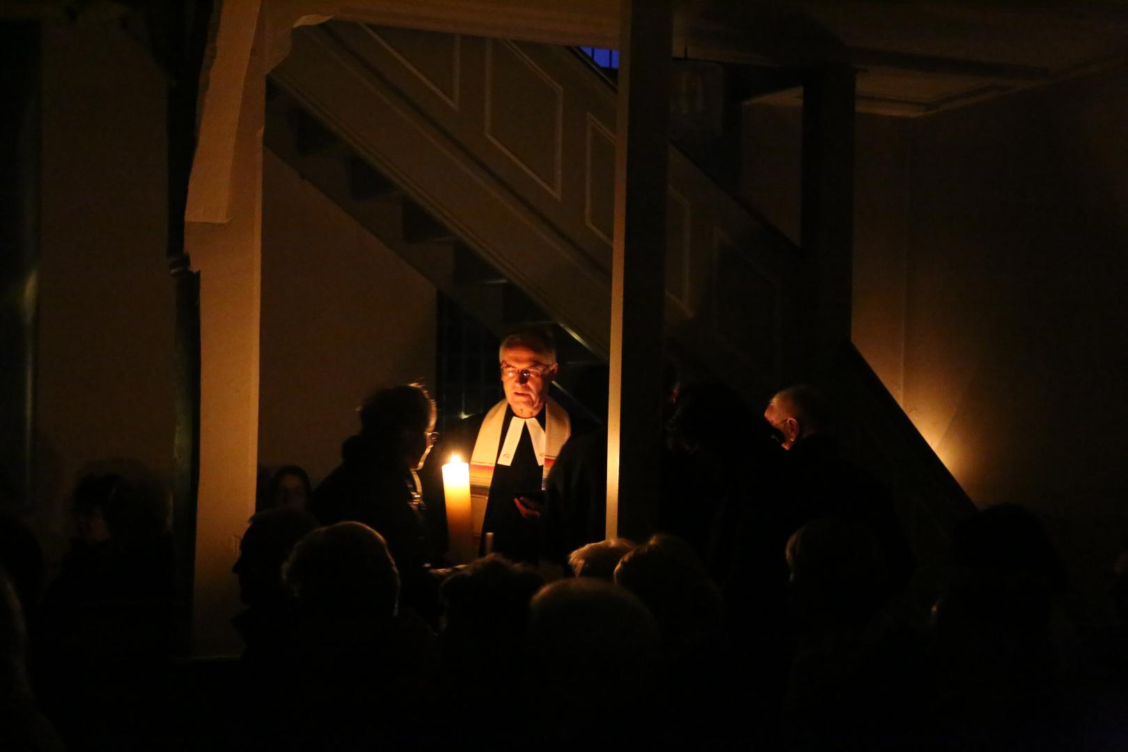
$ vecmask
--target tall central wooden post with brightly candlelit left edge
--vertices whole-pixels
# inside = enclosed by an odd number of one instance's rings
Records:
[[[659,494],[672,15],[623,0],[607,414],[607,537],[653,531]]]

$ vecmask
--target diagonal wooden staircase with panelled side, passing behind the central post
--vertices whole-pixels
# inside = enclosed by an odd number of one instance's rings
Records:
[[[606,361],[615,90],[585,60],[332,21],[296,29],[271,83],[268,148],[437,287],[494,330],[558,326],[565,364]],[[673,147],[666,254],[670,350],[778,383],[799,254]]]

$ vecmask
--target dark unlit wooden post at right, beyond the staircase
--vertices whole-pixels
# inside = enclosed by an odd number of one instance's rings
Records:
[[[851,340],[854,69],[847,63],[826,63],[804,77],[802,170],[813,365]]]

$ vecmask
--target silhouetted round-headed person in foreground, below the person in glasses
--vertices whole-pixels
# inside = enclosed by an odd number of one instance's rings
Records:
[[[280,698],[282,728],[302,749],[426,746],[434,636],[397,616],[399,574],[380,534],[359,522],[319,528],[283,573],[296,669]]]

